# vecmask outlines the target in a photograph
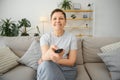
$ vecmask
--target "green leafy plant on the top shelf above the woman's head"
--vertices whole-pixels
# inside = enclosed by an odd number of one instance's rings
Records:
[[[69,0],[63,0],[63,2],[61,2],[59,6],[61,9],[69,10],[72,8],[72,2]]]

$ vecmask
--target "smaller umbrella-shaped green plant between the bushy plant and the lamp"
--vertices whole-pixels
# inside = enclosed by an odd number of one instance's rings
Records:
[[[19,27],[23,27],[24,30],[22,31],[21,36],[29,36],[29,34],[27,33],[27,27],[31,27],[31,23],[29,20],[27,20],[26,18],[21,19],[19,22]]]

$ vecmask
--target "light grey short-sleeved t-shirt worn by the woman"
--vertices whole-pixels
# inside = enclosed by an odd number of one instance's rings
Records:
[[[53,32],[49,32],[40,38],[40,46],[43,45],[57,45],[58,48],[63,48],[65,50],[63,58],[67,58],[70,50],[77,49],[77,39],[74,35],[66,31],[60,37],[53,35]]]

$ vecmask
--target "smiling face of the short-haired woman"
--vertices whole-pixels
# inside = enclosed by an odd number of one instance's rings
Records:
[[[51,17],[51,24],[54,30],[63,30],[66,20],[62,12],[55,12]]]

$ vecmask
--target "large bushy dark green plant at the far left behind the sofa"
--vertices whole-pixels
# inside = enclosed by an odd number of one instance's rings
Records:
[[[0,21],[0,35],[1,36],[18,36],[19,26],[11,21],[11,19],[2,19]]]

